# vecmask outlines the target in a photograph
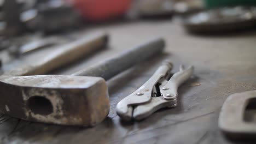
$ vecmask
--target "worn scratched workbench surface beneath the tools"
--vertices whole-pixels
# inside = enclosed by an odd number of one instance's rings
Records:
[[[228,95],[256,89],[255,31],[203,37],[186,33],[171,20],[160,20],[110,23],[71,35],[98,30],[110,33],[109,49],[50,74],[72,74],[156,36],[164,37],[167,46],[162,55],[108,81],[111,109],[96,127],[31,123],[2,115],[0,143],[245,143],[225,139],[218,129],[218,115]],[[115,105],[146,82],[166,58],[173,62],[173,71],[179,64],[195,66],[194,76],[179,88],[178,106],[157,111],[141,122],[121,122]]]

